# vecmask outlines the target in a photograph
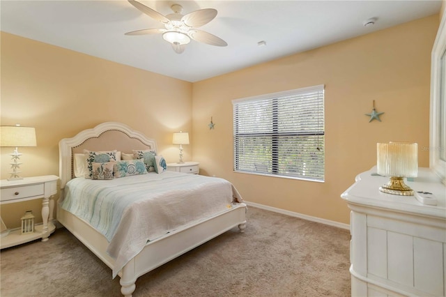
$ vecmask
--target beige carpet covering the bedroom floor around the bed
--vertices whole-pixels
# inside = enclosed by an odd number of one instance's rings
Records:
[[[133,296],[350,296],[347,230],[249,207],[234,228],[137,280]],[[1,297],[121,296],[66,229],[1,250]]]

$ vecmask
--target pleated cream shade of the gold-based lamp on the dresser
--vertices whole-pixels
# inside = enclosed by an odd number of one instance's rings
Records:
[[[418,145],[409,142],[377,144],[377,173],[382,176],[417,177]]]

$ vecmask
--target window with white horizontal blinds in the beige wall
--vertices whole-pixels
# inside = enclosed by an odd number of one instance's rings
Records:
[[[233,100],[234,171],[324,181],[323,88]]]

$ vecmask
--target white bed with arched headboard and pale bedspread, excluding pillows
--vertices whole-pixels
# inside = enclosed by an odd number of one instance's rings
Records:
[[[124,296],[132,296],[139,276],[229,229],[245,230],[246,204],[236,188],[222,178],[165,171],[95,181],[75,174],[79,167],[75,159],[84,150],[114,150],[124,156],[156,149],[154,139],[117,122],[102,123],[59,142],[61,199],[57,220],[112,268],[112,277],[121,277]],[[122,190],[118,188],[121,186],[130,188]],[[121,195],[125,199],[114,197],[118,192],[125,193]],[[76,195],[81,198],[75,199]],[[109,199],[111,208],[105,208]],[[79,210],[82,204],[91,212]],[[153,212],[148,212],[149,208]],[[108,229],[103,228],[105,224]]]

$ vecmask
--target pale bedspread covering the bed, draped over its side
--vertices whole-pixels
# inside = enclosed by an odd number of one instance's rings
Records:
[[[74,178],[61,207],[107,238],[115,277],[147,241],[222,213],[233,201],[242,198],[229,181],[168,171],[111,181]]]

